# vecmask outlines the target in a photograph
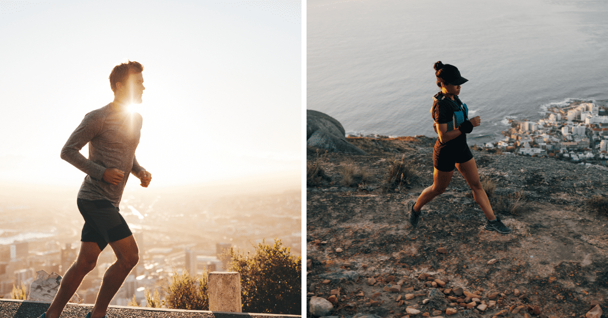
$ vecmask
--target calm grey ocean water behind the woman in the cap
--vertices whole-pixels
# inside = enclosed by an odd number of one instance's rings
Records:
[[[608,99],[608,1],[307,1],[306,109],[347,134],[437,136],[433,64],[458,67],[482,125],[537,120],[553,103]]]

